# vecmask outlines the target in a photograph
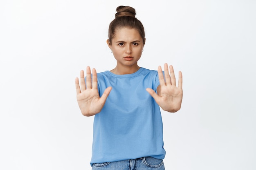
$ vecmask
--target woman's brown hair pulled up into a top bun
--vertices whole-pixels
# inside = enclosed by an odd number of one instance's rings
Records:
[[[143,44],[145,44],[145,31],[142,23],[135,18],[136,11],[132,7],[127,6],[119,6],[117,7],[117,13],[115,14],[116,18],[112,20],[109,24],[108,28],[108,39],[110,45],[112,44],[112,38],[115,37],[115,31],[118,28],[122,27],[130,27],[137,29],[139,31],[139,35],[143,40]]]

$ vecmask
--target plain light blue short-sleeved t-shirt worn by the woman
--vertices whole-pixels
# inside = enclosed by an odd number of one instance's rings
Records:
[[[112,91],[94,116],[91,165],[147,156],[164,159],[160,108],[146,91],[157,91],[157,71],[140,68],[125,75],[105,71],[97,77],[100,96],[109,86]]]

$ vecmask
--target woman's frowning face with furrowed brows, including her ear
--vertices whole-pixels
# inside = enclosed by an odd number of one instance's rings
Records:
[[[123,27],[117,29],[109,48],[117,60],[117,66],[137,66],[143,51],[143,40],[136,29]]]

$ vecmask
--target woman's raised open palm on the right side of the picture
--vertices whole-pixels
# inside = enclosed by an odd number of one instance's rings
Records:
[[[155,93],[151,88],[147,88],[146,91],[148,91],[148,93],[155,99],[155,102],[157,102],[163,110],[168,112],[177,112],[180,110],[183,96],[182,73],[179,72],[178,86],[176,86],[173,66],[169,66],[169,68],[170,74],[168,71],[168,65],[165,63],[163,75],[161,66],[158,66],[160,85],[157,87],[157,93]]]

